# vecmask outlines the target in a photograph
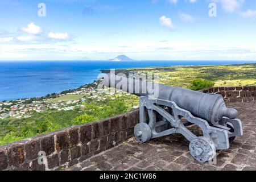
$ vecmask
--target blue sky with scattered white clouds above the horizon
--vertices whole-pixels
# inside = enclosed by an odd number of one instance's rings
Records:
[[[0,60],[256,60],[255,32],[254,0],[0,1]]]

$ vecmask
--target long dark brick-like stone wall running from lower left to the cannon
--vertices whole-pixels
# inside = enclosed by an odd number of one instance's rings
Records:
[[[73,166],[133,136],[139,110],[0,146],[0,170],[54,170]],[[46,154],[46,158],[39,156]],[[39,164],[46,159],[45,164]],[[39,162],[38,162],[39,161]]]

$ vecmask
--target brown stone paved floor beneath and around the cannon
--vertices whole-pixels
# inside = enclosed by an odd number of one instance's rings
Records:
[[[197,163],[189,154],[189,142],[174,134],[144,144],[131,138],[65,170],[256,170],[256,102],[228,105],[238,110],[243,136],[228,150],[217,151],[216,165]]]

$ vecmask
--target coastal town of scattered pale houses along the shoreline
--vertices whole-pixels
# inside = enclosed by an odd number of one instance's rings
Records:
[[[0,102],[0,119],[4,118],[28,118],[33,113],[41,113],[48,110],[75,110],[81,107],[83,102],[88,99],[97,98],[97,100],[105,100],[97,92],[97,86],[101,80],[94,81],[92,84],[81,86],[79,89],[64,91],[60,94],[52,94],[50,98],[42,97],[19,99],[14,101]],[[111,93],[110,93],[111,94]],[[68,99],[67,99],[68,98]]]

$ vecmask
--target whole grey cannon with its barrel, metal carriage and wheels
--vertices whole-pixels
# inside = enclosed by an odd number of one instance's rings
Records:
[[[204,163],[216,150],[226,150],[230,142],[242,136],[237,110],[228,108],[221,95],[127,78],[109,73],[104,85],[140,97],[139,123],[134,136],[139,142],[180,133],[189,140],[193,158]],[[148,117],[147,117],[148,116]],[[188,126],[197,125],[203,136],[196,136]]]

